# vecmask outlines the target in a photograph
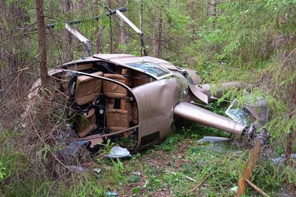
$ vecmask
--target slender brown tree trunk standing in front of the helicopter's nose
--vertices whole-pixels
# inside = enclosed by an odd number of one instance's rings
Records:
[[[39,52],[39,67],[40,67],[40,78],[41,78],[41,89],[43,90],[44,101],[42,104],[42,123],[43,130],[47,130],[48,125],[48,114],[47,114],[47,93],[46,88],[48,87],[48,72],[47,72],[47,57],[46,57],[46,37],[45,37],[45,22],[43,12],[43,1],[36,0],[36,12],[37,12],[37,31],[38,31],[38,52]]]

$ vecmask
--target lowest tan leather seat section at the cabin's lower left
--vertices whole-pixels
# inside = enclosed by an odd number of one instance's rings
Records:
[[[81,115],[77,134],[79,135],[80,138],[83,138],[86,135],[88,135],[90,132],[95,130],[97,127],[98,126],[96,122],[95,109],[91,109],[88,111],[88,115],[86,115],[86,113],[83,113]]]

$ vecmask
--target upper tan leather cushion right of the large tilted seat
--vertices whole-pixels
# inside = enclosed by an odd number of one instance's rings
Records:
[[[126,78],[120,74],[104,74],[104,77],[126,84]],[[124,87],[106,80],[103,81],[103,91],[105,96],[110,98],[125,98],[127,96],[127,90]]]

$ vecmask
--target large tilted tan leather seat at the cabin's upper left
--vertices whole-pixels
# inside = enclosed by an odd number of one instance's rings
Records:
[[[91,73],[97,76],[103,76],[101,71]],[[102,80],[89,77],[80,76],[77,77],[75,97],[78,105],[83,105],[94,100],[96,94],[100,94],[102,89]]]

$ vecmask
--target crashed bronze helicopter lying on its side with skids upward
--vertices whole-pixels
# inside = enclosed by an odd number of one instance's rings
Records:
[[[61,90],[69,95],[68,107],[75,113],[74,123],[69,127],[75,131],[81,146],[97,151],[99,144],[106,143],[107,139],[134,135],[135,143],[130,151],[140,152],[174,133],[178,118],[251,136],[260,139],[261,145],[267,142],[268,135],[262,131],[258,133],[256,124],[246,125],[200,107],[220,98],[229,86],[240,86],[239,83],[224,83],[219,91],[211,94],[210,84],[202,84],[198,72],[148,56],[142,31],[122,14],[123,11],[126,11],[125,7],[111,10],[107,15],[117,15],[137,32],[143,57],[92,54],[90,41],[70,26],[81,21],[73,20],[66,22],[65,28],[84,43],[89,57],[48,70],[49,75],[67,81],[61,83]],[[55,23],[46,26],[52,28]],[[20,29],[28,28],[11,28],[13,31]],[[34,106],[40,84],[38,79],[32,86],[23,118]],[[260,119],[251,107],[245,106],[243,111]]]

